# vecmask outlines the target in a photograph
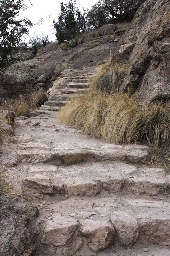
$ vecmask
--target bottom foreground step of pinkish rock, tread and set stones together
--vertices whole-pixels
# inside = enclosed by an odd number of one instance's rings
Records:
[[[160,202],[155,201],[157,207],[152,207],[152,204],[146,207],[144,200],[142,203],[142,206],[135,207],[120,198],[60,201],[52,206],[54,213],[52,220],[46,221],[42,244],[64,246],[75,234],[80,239],[87,237],[87,245],[94,252],[107,248],[116,237],[126,246],[136,240],[144,243],[146,239],[150,246],[170,245],[170,203],[159,206]]]

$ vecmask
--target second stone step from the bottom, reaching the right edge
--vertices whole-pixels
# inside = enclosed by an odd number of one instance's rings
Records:
[[[118,193],[121,195],[167,195],[170,192],[170,176],[161,168],[138,168],[124,163],[85,164],[61,167],[33,166],[34,175],[26,177],[28,187],[43,194],[68,194],[96,196]],[[42,173],[38,174],[39,170]],[[53,170],[53,171],[50,171]],[[56,171],[55,171],[56,170]],[[47,175],[50,173],[50,180]]]

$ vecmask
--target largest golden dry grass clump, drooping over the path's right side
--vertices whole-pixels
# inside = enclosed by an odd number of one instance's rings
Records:
[[[151,148],[152,159],[170,154],[170,103],[143,108],[128,94],[99,91],[79,94],[59,112],[61,124],[73,125],[109,143],[142,142]]]

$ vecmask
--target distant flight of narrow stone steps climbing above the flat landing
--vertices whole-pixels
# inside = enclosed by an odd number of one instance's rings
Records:
[[[78,93],[89,90],[89,84],[94,77],[98,67],[94,67],[93,72],[88,68],[71,70],[67,69],[61,73],[61,77],[53,82],[48,101],[40,107],[40,110],[58,111],[70,99]]]

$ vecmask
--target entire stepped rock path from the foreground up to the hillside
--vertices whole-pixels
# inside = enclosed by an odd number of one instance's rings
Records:
[[[169,256],[170,176],[148,167],[147,146],[107,144],[56,121],[97,68],[62,72],[41,110],[16,118],[1,154],[8,179],[39,209],[36,256]]]

